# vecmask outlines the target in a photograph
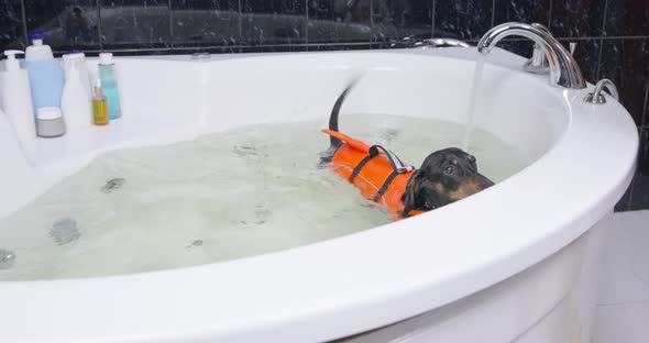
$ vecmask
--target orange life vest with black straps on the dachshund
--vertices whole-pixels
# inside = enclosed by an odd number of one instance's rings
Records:
[[[369,145],[337,131],[322,132],[344,142],[336,151],[329,168],[356,186],[363,197],[383,204],[397,218],[424,212],[411,210],[404,213],[402,198],[415,172],[414,167],[404,165],[382,145]]]

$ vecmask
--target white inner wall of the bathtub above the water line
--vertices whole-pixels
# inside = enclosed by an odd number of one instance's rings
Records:
[[[90,66],[92,67],[92,63]],[[191,140],[249,124],[319,120],[350,79],[363,75],[344,114],[394,114],[463,123],[474,63],[398,53],[249,57],[211,63],[119,59],[123,119],[108,128],[37,140],[33,161],[0,136],[0,218],[24,206],[102,152]],[[569,122],[560,92],[536,78],[485,68],[476,126],[517,146],[528,163],[557,142]],[[10,132],[0,121],[0,132]],[[299,142],[296,142],[298,144]]]

